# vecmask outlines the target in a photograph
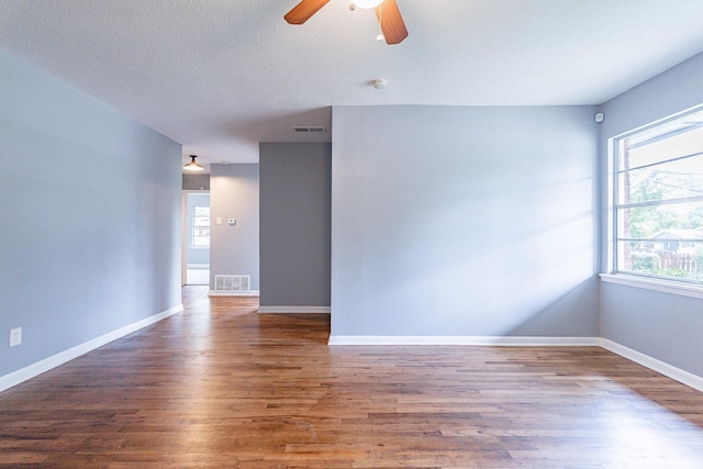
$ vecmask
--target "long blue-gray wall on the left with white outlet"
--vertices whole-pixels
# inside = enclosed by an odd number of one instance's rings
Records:
[[[0,83],[3,376],[180,304],[181,147],[2,51]]]

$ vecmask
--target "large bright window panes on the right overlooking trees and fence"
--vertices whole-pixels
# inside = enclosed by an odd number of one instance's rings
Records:
[[[703,110],[614,143],[614,272],[703,283]]]

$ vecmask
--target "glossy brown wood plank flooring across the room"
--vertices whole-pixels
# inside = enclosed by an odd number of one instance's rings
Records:
[[[596,347],[327,347],[177,314],[0,393],[0,467],[703,468],[703,393]]]

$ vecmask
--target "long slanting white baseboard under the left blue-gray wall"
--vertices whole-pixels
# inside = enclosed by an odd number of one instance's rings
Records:
[[[52,355],[48,358],[44,358],[43,360],[36,361],[30,366],[21,368],[16,371],[12,371],[11,373],[4,375],[0,377],[0,392],[5,389],[12,388],[23,381],[26,381],[31,378],[34,378],[43,372],[46,372],[53,368],[58,367],[59,365],[64,365],[67,361],[72,360],[74,358],[80,357],[88,351],[94,350],[96,348],[102,347],[105,344],[111,343],[112,340],[116,340],[118,338],[124,337],[125,335],[130,335],[133,332],[136,332],[143,327],[157,323],[161,320],[165,320],[168,316],[172,316],[176,313],[180,313],[183,311],[183,305],[179,304],[177,306],[169,308],[168,310],[154,314],[153,316],[146,317],[142,321],[137,321],[136,323],[126,325],[124,327],[120,327],[119,330],[109,332],[108,334],[101,335],[100,337],[96,337],[91,340],[85,342],[75,347],[68,348],[64,351],[59,351],[56,355]]]

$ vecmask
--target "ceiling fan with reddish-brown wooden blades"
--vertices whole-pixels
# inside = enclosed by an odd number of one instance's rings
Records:
[[[283,18],[290,24],[303,24],[328,2],[330,0],[302,0]],[[408,30],[395,0],[352,0],[349,9],[354,10],[356,7],[376,9],[387,44],[399,44],[408,37]]]

